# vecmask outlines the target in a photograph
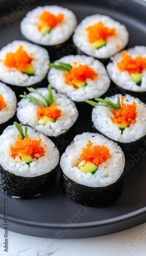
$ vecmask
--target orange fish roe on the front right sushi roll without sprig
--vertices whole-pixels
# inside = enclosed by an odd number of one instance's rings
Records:
[[[96,166],[99,166],[99,164],[102,164],[110,158],[111,155],[109,153],[109,149],[105,145],[96,145],[92,147],[92,144],[93,143],[89,140],[87,148],[83,148],[79,161],[85,160],[86,162],[89,161]]]

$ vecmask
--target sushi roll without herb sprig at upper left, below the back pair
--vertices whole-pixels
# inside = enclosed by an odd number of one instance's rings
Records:
[[[45,49],[21,40],[3,47],[0,59],[0,80],[11,85],[16,92],[20,88],[40,84],[48,73],[50,62]]]

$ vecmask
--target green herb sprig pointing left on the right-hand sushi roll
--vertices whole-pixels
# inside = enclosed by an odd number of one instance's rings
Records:
[[[106,97],[105,99],[102,98],[95,98],[94,100],[101,102],[101,103],[97,103],[93,100],[86,100],[85,102],[87,102],[88,104],[92,105],[92,106],[106,106],[107,108],[110,108],[112,110],[116,110],[116,109],[121,109],[121,105],[120,105],[120,100],[119,100],[119,96],[117,95],[117,102],[116,104],[113,103],[111,100],[109,100],[108,97]]]

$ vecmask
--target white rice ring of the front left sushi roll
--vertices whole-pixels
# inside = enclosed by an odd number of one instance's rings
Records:
[[[59,151],[55,144],[46,136],[35,132],[34,129],[28,126],[28,137],[32,140],[42,139],[41,146],[46,145],[44,147],[45,155],[38,160],[33,159],[30,165],[24,161],[18,163],[11,157],[10,151],[10,147],[15,145],[18,134],[19,132],[13,124],[8,126],[0,136],[0,164],[2,167],[10,173],[23,177],[35,177],[51,172],[59,162]]]

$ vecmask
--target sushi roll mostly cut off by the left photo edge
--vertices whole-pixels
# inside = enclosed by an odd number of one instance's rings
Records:
[[[17,99],[15,93],[5,83],[0,82],[0,128],[1,132],[8,126],[8,121],[14,117]]]

